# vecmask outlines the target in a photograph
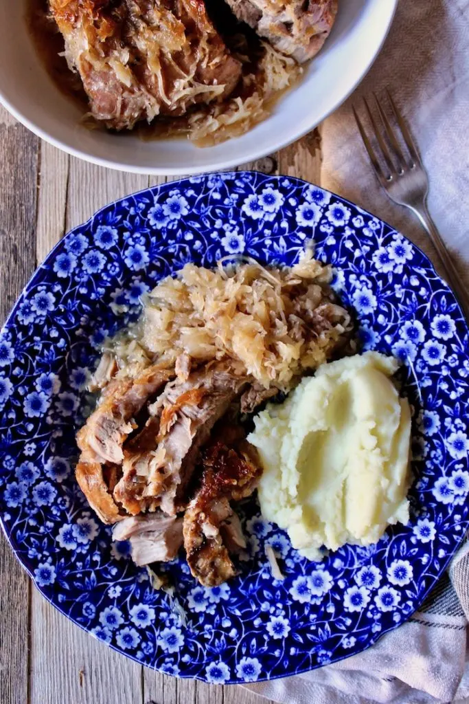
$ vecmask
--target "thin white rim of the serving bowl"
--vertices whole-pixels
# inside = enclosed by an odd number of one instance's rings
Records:
[[[211,171],[216,171],[216,170],[226,170],[226,169],[231,169],[234,168],[240,163],[246,162],[246,161],[257,161],[260,158],[263,158],[264,156],[269,156],[272,152],[278,151],[280,149],[285,148],[286,146],[289,146],[290,144],[293,144],[293,142],[296,142],[297,139],[301,139],[304,137],[305,134],[310,132],[311,130],[314,130],[317,125],[319,125],[323,120],[326,120],[330,114],[335,112],[342,103],[344,103],[347,98],[354,92],[356,87],[361,83],[361,81],[364,79],[368,71],[370,70],[371,66],[375,62],[375,59],[378,57],[378,54],[380,54],[381,49],[383,48],[383,44],[385,42],[385,39],[387,38],[387,35],[390,32],[390,28],[392,25],[392,21],[394,20],[394,15],[397,11],[397,4],[399,0],[388,0],[389,6],[388,6],[388,14],[387,18],[385,18],[385,22],[383,23],[382,27],[382,36],[380,37],[380,40],[378,42],[378,46],[376,51],[374,52],[373,56],[371,56],[370,60],[364,67],[364,69],[361,71],[361,74],[356,77],[356,80],[352,83],[352,85],[349,87],[349,90],[338,100],[336,100],[333,105],[326,111],[326,113],[323,115],[321,120],[315,121],[313,125],[310,125],[307,127],[307,129],[302,129],[296,132],[293,137],[287,137],[286,139],[282,137],[281,132],[276,134],[276,138],[272,139],[271,146],[269,146],[269,149],[266,149],[265,147],[259,147],[259,149],[254,149],[250,151],[248,154],[242,157],[241,161],[238,158],[227,158],[227,159],[219,159],[216,162],[210,161],[210,163],[207,163],[203,166],[200,165],[191,165],[187,164],[184,165],[184,175],[196,175],[200,173],[207,173]],[[23,111],[18,109],[13,101],[8,99],[5,94],[3,89],[1,88],[0,85],[0,103],[1,105],[6,108],[6,110],[13,115],[13,117],[18,120],[22,125],[27,127],[28,130],[33,132],[34,134],[37,135],[37,137],[40,137],[41,139],[44,139],[45,142],[48,142],[52,146],[55,146],[57,149],[60,149],[61,151],[65,151],[65,153],[68,153],[70,156],[75,156],[77,158],[80,158],[84,161],[87,161],[89,163],[96,164],[98,166],[103,166],[105,168],[110,168],[113,170],[117,171],[123,171],[127,173],[134,173],[134,174],[140,174],[140,175],[150,175],[150,176],[181,176],[181,167],[172,167],[172,166],[155,166],[155,167],[148,167],[148,166],[138,166],[138,165],[131,165],[124,163],[122,161],[113,161],[112,158],[103,158],[99,156],[94,156],[92,153],[89,151],[84,151],[82,149],[77,149],[75,146],[71,146],[70,144],[67,144],[66,142],[62,142],[60,139],[57,139],[56,137],[53,136],[53,134],[50,134],[46,130],[44,130],[42,127],[40,127],[37,122],[34,121],[34,118],[27,117]],[[207,147],[206,149],[210,149],[210,147]]]

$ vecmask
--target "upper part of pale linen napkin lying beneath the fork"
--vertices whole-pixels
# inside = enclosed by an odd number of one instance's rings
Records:
[[[416,218],[392,203],[375,180],[356,130],[352,105],[364,116],[362,97],[371,97],[373,105],[375,92],[385,101],[385,88],[411,126],[430,177],[430,213],[469,284],[468,0],[400,0],[370,73],[321,130],[321,185],[389,222],[437,265]]]

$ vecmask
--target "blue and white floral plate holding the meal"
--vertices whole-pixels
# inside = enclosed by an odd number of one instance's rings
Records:
[[[111,544],[73,474],[87,370],[141,295],[186,262],[246,253],[291,265],[305,241],[337,268],[365,348],[399,357],[413,417],[411,522],[323,562],[293,550],[255,501],[250,557],[204,589],[167,566],[186,612]],[[0,510],[38,589],[68,618],[161,672],[209,682],[284,677],[368,648],[416,610],[468,526],[468,328],[454,295],[401,234],[338,196],[252,172],[193,177],[106,206],[56,246],[0,340]],[[272,579],[264,546],[281,558]]]

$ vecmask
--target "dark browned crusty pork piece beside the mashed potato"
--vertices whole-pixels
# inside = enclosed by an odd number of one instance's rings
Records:
[[[193,576],[204,586],[217,586],[236,574],[229,555],[243,547],[231,499],[249,496],[261,474],[248,443],[239,451],[215,442],[203,453],[200,489],[184,514],[184,548]]]

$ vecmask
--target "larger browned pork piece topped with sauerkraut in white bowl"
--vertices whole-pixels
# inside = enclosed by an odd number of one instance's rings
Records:
[[[203,0],[49,0],[92,115],[115,130],[228,96],[240,62]]]

